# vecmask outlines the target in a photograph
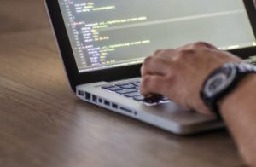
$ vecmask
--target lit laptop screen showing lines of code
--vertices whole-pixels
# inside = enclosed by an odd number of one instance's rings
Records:
[[[256,46],[241,0],[59,0],[79,72],[140,64],[156,49],[204,41]]]

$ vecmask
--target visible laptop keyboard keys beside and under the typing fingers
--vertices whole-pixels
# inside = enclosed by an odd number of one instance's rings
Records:
[[[158,104],[170,102],[166,97],[162,95],[151,95],[150,97],[144,97],[139,92],[139,85],[140,81],[137,79],[131,82],[120,82],[108,86],[102,86],[102,89],[106,89],[116,95],[123,95],[126,98],[130,98],[134,101],[141,101],[147,106],[155,106]]]

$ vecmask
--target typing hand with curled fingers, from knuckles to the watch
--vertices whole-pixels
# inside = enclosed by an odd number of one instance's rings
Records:
[[[211,114],[200,98],[203,82],[224,63],[240,61],[235,55],[201,42],[158,50],[143,63],[140,91],[146,96],[165,95],[183,107]]]

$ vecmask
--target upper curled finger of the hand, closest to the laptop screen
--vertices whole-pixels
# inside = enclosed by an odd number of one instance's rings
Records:
[[[144,60],[143,66],[141,68],[141,74],[142,76],[145,75],[161,75],[164,76],[166,73],[170,71],[170,67],[172,66],[172,63],[162,59],[160,57],[155,56],[149,56]]]

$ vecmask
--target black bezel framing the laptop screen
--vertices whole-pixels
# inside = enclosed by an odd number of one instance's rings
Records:
[[[243,0],[243,2],[245,3],[247,14],[253,27],[253,33],[255,36],[256,10],[253,5],[253,0]],[[45,4],[49,12],[51,25],[53,26],[55,32],[55,39],[60,50],[61,58],[67,72],[68,82],[74,92],[76,91],[77,85],[84,83],[96,83],[102,81],[109,82],[125,78],[137,78],[140,76],[141,64],[79,73],[58,0],[45,0]],[[256,47],[235,49],[230,50],[230,52],[240,56],[243,59],[247,59],[251,55],[256,55]]]

